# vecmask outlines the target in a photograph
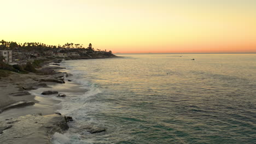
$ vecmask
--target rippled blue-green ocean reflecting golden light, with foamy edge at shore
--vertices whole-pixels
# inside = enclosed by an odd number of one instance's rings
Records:
[[[62,99],[53,143],[256,143],[256,54],[119,56],[62,62],[88,91]]]

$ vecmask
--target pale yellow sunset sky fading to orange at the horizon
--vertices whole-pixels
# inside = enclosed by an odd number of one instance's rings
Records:
[[[256,52],[255,0],[0,0],[0,39],[117,53]]]

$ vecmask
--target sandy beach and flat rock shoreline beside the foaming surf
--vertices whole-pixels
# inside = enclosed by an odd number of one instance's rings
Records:
[[[71,58],[70,60],[72,59],[92,58]],[[83,89],[74,88],[76,87],[75,83],[64,80],[68,74],[59,71],[62,69],[58,64],[61,61],[62,59],[54,59],[42,64],[42,67],[38,70],[47,69],[49,71],[50,69],[54,71],[51,71],[51,74],[48,75],[38,75],[34,73],[18,74],[11,72],[12,74],[8,77],[2,77],[0,81],[1,143],[29,143],[28,141],[31,141],[31,143],[51,143],[51,137],[54,133],[63,133],[68,129],[67,123],[69,119],[67,119],[66,116],[60,116],[60,113],[55,113],[56,110],[60,109],[60,106],[56,105],[60,103],[60,101],[54,100],[51,97],[40,97],[33,94],[35,91],[42,93],[46,90],[65,92],[68,91],[68,89],[69,91],[70,89],[74,89],[73,91],[75,92],[85,91]],[[65,83],[65,88],[63,88],[63,84],[61,83]],[[36,119],[42,119],[40,124],[38,124]],[[28,124],[28,122],[31,123],[31,121],[33,124]],[[26,127],[22,125],[26,125]],[[63,127],[63,125],[65,125],[65,127]],[[33,136],[19,134],[20,129],[22,129],[21,127],[31,129]],[[11,136],[15,135],[20,136],[13,139]]]

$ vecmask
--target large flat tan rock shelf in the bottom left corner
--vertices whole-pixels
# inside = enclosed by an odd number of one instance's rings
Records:
[[[50,144],[54,133],[64,133],[68,128],[65,118],[57,114],[35,114],[7,119],[0,122],[0,143]]]

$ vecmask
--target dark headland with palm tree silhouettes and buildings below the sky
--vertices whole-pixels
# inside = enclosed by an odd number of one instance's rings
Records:
[[[13,64],[26,64],[36,59],[89,59],[116,57],[112,51],[95,50],[90,43],[87,48],[83,44],[66,43],[64,45],[46,45],[44,43],[16,43],[0,41],[0,61]]]

